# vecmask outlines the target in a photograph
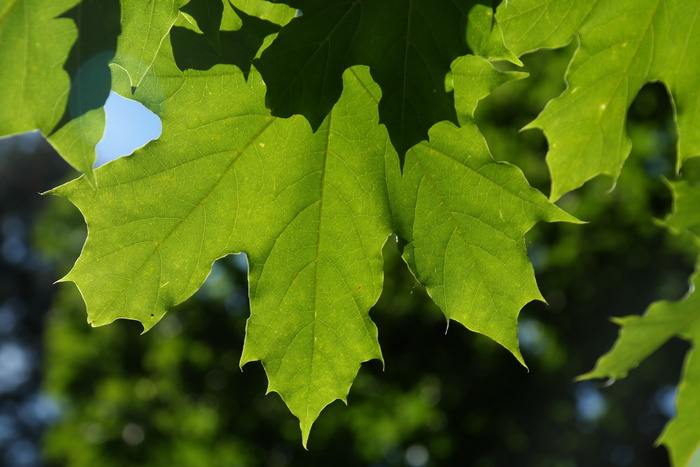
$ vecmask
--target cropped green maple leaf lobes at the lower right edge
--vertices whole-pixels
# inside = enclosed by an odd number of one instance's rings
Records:
[[[700,187],[686,182],[669,183],[674,194],[674,212],[666,225],[674,232],[689,232],[700,246],[700,213],[697,200]],[[613,348],[603,355],[595,368],[579,379],[624,378],[646,357],[674,336],[689,340],[688,351],[678,389],[677,415],[666,425],[658,443],[666,445],[673,465],[697,465],[700,461],[700,272],[693,275],[688,295],[677,302],[653,303],[643,316],[615,319],[621,326]]]

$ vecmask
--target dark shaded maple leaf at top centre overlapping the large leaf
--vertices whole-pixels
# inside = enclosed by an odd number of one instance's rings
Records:
[[[341,74],[368,65],[382,89],[380,122],[403,161],[436,122],[457,123],[445,76],[470,50],[517,62],[490,7],[454,0],[298,0],[303,14],[256,61],[273,114],[317,128],[342,90]],[[466,31],[465,31],[466,25]]]

